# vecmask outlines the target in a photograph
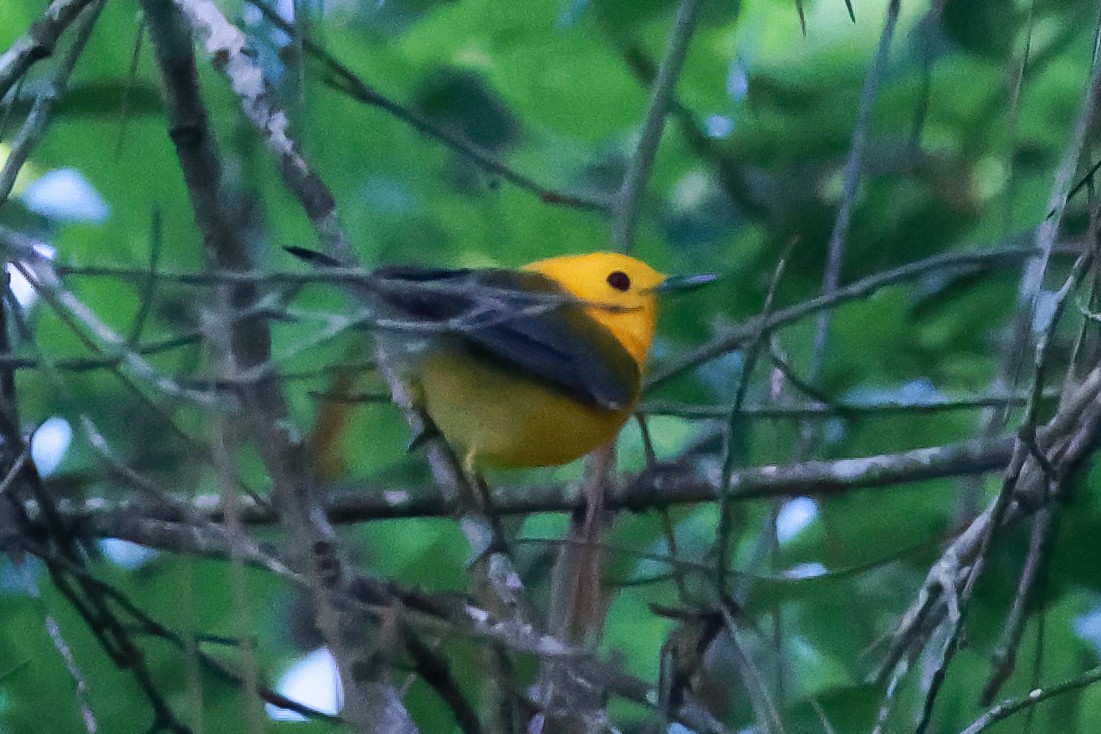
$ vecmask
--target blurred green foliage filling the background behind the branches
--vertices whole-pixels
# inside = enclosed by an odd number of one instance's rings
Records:
[[[385,111],[357,103],[326,83],[320,65],[249,3],[219,3],[243,28],[291,118],[306,157],[334,190],[340,218],[369,264],[418,262],[503,265],[556,253],[608,247],[603,213],[552,206],[487,174],[455,150]],[[821,287],[827,242],[842,190],[861,88],[875,53],[886,2],[853,3],[851,22],[839,0],[709,2],[679,77],[677,106],[662,139],[646,188],[634,253],[666,272],[715,271],[720,285],[666,305],[655,361],[668,363],[689,346],[762,308],[781,254],[794,241],[776,306],[814,297]],[[284,10],[290,2],[284,2]],[[408,106],[552,190],[603,199],[614,194],[633,153],[648,86],[672,24],[669,0],[388,0],[297,3],[310,34],[334,57],[382,95]],[[806,14],[800,31],[797,6]],[[0,3],[0,50],[39,18],[43,3]],[[842,282],[944,252],[1021,247],[1044,219],[1056,166],[1082,103],[1095,46],[1097,9],[1081,0],[981,0],[902,3],[890,62],[868,131],[863,177],[847,240]],[[56,249],[58,261],[143,272],[194,271],[203,249],[187,190],[165,130],[160,78],[148,39],[140,37],[137,4],[107,3],[72,89],[42,144],[0,208],[0,223]],[[1023,77],[1017,75],[1025,62]],[[40,68],[41,67],[41,68]],[[225,157],[235,198],[248,227],[258,269],[297,271],[281,245],[314,243],[308,220],[281,184],[274,165],[243,120],[236,98],[206,59],[201,88]],[[0,110],[0,161],[13,132],[45,84],[48,64],[32,69]],[[1087,153],[1095,155],[1091,130]],[[1083,161],[1084,171],[1089,161]],[[42,213],[24,195],[46,172],[79,173],[109,207],[102,222]],[[1086,234],[1090,191],[1070,202],[1060,237]],[[155,259],[155,260],[151,260]],[[1068,262],[1053,264],[1058,287]],[[999,373],[1014,314],[1017,266],[955,269],[885,288],[833,311],[825,368],[815,386],[833,399],[917,399],[986,392]],[[67,285],[119,333],[134,333],[149,297],[142,278],[73,275]],[[135,343],[186,335],[200,322],[208,294],[157,283]],[[330,287],[314,286],[292,302],[303,318],[274,326],[279,369],[291,375],[363,359],[361,335],[316,342],[317,310],[341,308]],[[22,355],[56,362],[88,350],[42,303],[25,314],[33,339]],[[1072,328],[1071,328],[1072,327]],[[1069,344],[1077,322],[1069,325]],[[775,347],[798,374],[811,363],[814,318],[775,335]],[[1064,342],[1060,342],[1062,344]],[[303,349],[302,344],[309,344]],[[156,351],[152,363],[171,375],[209,376],[197,340]],[[1060,347],[1059,368],[1066,348]],[[729,405],[744,365],[724,355],[664,384],[653,394],[693,404]],[[1061,374],[1058,369],[1051,374]],[[20,374],[20,409],[28,427],[63,416],[75,431],[57,471],[47,478],[59,495],[121,500],[116,472],[92,448],[81,418],[94,421],[119,460],[177,496],[217,494],[218,470],[203,459],[211,418],[165,399],[154,408],[108,371]],[[748,403],[767,404],[767,364],[751,376]],[[380,390],[368,375],[357,388]],[[324,403],[326,375],[288,382],[297,430],[307,434]],[[799,398],[785,386],[781,399]],[[1045,407],[1047,409],[1047,406]],[[1016,425],[1018,413],[1009,426]],[[796,459],[861,457],[936,446],[978,435],[980,410],[860,415],[814,427],[819,440],[791,420],[741,418],[738,465]],[[369,485],[430,491],[423,458],[406,454],[407,429],[389,404],[349,410],[339,436],[334,491]],[[661,459],[699,443],[701,464],[717,462],[722,421],[654,417],[650,428]],[[813,431],[814,432],[814,431]],[[233,458],[246,485],[268,491],[250,449]],[[709,465],[709,464],[708,464]],[[620,440],[619,470],[645,467],[640,431]],[[580,463],[557,470],[498,472],[492,484],[524,492],[548,481],[575,482]],[[998,478],[978,491],[993,496]],[[1080,478],[1061,513],[1057,552],[1043,584],[1043,623],[1025,635],[1006,694],[1021,694],[1098,664],[1101,646],[1101,566],[1092,540],[1101,527],[1097,474]],[[928,481],[851,492],[820,500],[813,522],[777,547],[766,537],[783,503],[735,503],[734,566],[746,615],[741,640],[775,697],[789,732],[870,731],[883,687],[873,683],[881,644],[912,601],[944,541],[958,532],[975,484]],[[970,503],[970,504],[969,504]],[[712,505],[674,507],[676,552],[686,562],[713,562],[719,523]],[[510,519],[517,558],[536,600],[546,602],[549,568],[565,521],[538,515]],[[609,530],[606,587],[610,595],[600,653],[652,683],[658,650],[673,623],[650,604],[677,605],[667,563],[673,551],[658,513],[620,514]],[[262,533],[277,543],[275,530]],[[467,547],[450,519],[403,519],[347,526],[341,538],[353,562],[370,573],[428,592],[465,591]],[[989,658],[1004,623],[1021,561],[1025,528],[992,550],[978,596],[969,607],[967,648],[949,671],[931,732],[957,732],[977,703]],[[241,610],[225,561],[160,554],[139,569],[119,567],[89,541],[96,573],[179,631],[235,637],[255,635],[260,676],[274,684],[294,659],[317,646],[308,604],[271,574],[250,570]],[[88,699],[102,731],[145,731],[148,705],[133,680],[118,671],[90,633],[30,567],[42,598],[26,592],[10,563],[0,567],[0,731],[83,731],[73,681],[46,636],[56,617],[89,681]],[[36,570],[37,569],[37,570]],[[813,578],[789,574],[808,569]],[[702,595],[701,588],[689,592]],[[242,627],[243,618],[247,620]],[[1092,621],[1092,622],[1091,622]],[[775,634],[774,634],[774,631]],[[781,642],[776,642],[781,640]],[[142,640],[166,700],[194,715],[201,702],[205,731],[247,731],[242,706],[259,705],[210,676],[196,690],[181,650]],[[471,699],[484,675],[473,640],[446,647],[456,678]],[[235,660],[233,648],[210,645]],[[525,662],[528,675],[533,667]],[[924,664],[923,664],[924,665]],[[1035,678],[1034,678],[1035,671]],[[924,672],[898,691],[887,731],[905,732],[920,706]],[[732,730],[754,722],[729,650],[716,645],[706,660],[701,699]],[[523,681],[525,684],[530,680]],[[200,697],[200,698],[198,698]],[[455,731],[446,706],[422,681],[407,703],[424,732]],[[646,731],[653,711],[615,700],[611,716],[623,732]],[[335,731],[323,723],[265,721],[265,731]],[[998,732],[1093,732],[1101,728],[1101,692],[1076,691],[1000,725]],[[656,731],[656,730],[650,730]]]

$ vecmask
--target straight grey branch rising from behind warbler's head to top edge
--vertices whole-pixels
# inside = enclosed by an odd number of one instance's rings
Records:
[[[646,179],[650,178],[650,169],[654,165],[662,130],[665,128],[665,114],[673,99],[673,88],[684,66],[688,42],[696,29],[701,4],[702,0],[680,0],[677,7],[673,31],[669,32],[665,45],[665,56],[662,58],[662,66],[657,69],[657,78],[654,79],[650,92],[650,107],[646,121],[643,123],[642,136],[639,139],[634,155],[631,156],[623,183],[615,194],[612,247],[620,252],[628,252],[631,249],[634,228],[639,222],[639,210],[642,208],[642,191],[646,186]]]

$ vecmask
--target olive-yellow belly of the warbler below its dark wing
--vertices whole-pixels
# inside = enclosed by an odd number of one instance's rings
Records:
[[[470,467],[566,463],[609,441],[634,409],[585,405],[465,352],[418,360],[422,407]]]

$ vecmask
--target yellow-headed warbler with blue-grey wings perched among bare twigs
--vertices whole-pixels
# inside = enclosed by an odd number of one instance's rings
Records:
[[[611,440],[639,403],[656,296],[711,280],[595,252],[520,270],[383,267],[368,291],[415,404],[473,471],[562,464]]]

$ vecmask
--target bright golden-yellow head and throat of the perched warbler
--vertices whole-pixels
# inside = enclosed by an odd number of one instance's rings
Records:
[[[665,282],[663,274],[617,252],[548,258],[522,270],[545,275],[593,304],[586,308],[588,315],[612,332],[640,368],[645,366],[657,320],[655,288]]]

